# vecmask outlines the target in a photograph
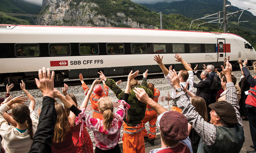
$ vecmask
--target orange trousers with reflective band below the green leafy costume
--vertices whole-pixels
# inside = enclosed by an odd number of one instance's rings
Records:
[[[145,144],[142,130],[144,124],[140,122],[137,126],[128,126],[123,122],[123,152],[124,153],[145,153]],[[125,144],[125,145],[124,145]]]

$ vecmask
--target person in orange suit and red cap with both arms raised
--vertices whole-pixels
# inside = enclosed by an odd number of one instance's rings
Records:
[[[83,75],[81,73],[79,74],[79,79],[82,83],[82,87],[83,87],[83,90],[85,91],[85,95],[87,95],[90,88],[83,81]],[[91,102],[92,111],[93,111],[92,117],[94,119],[102,119],[102,115],[99,112],[97,102],[101,97],[107,97],[107,95],[109,94],[109,87],[107,87],[105,81],[102,81],[102,82],[103,82],[104,88],[102,88],[101,85],[95,85],[93,88],[94,93],[92,93],[92,95],[90,96],[90,102]]]

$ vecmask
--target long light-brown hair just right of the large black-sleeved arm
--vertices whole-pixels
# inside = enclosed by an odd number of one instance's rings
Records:
[[[54,143],[59,143],[65,140],[66,133],[69,131],[69,122],[67,119],[67,113],[64,107],[60,103],[55,103],[55,110],[57,114],[57,120],[54,127]]]

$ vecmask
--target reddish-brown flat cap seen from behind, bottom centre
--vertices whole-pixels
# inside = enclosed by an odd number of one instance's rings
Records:
[[[188,120],[179,112],[169,111],[164,113],[159,125],[162,136],[170,141],[185,140],[189,136]]]

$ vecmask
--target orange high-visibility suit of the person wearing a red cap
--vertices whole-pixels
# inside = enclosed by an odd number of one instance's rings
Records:
[[[87,95],[88,91],[89,91],[89,87],[83,83],[82,84],[83,90],[85,90],[85,95]],[[102,92],[101,95],[96,95],[95,93],[92,93],[92,95],[90,96],[90,102],[92,104],[92,117],[94,119],[102,119],[102,115],[100,114],[100,111],[98,109],[98,100],[101,97],[107,97],[107,95],[109,94],[109,87],[107,87],[107,85],[105,83],[103,83],[103,87],[104,87],[104,91]]]

